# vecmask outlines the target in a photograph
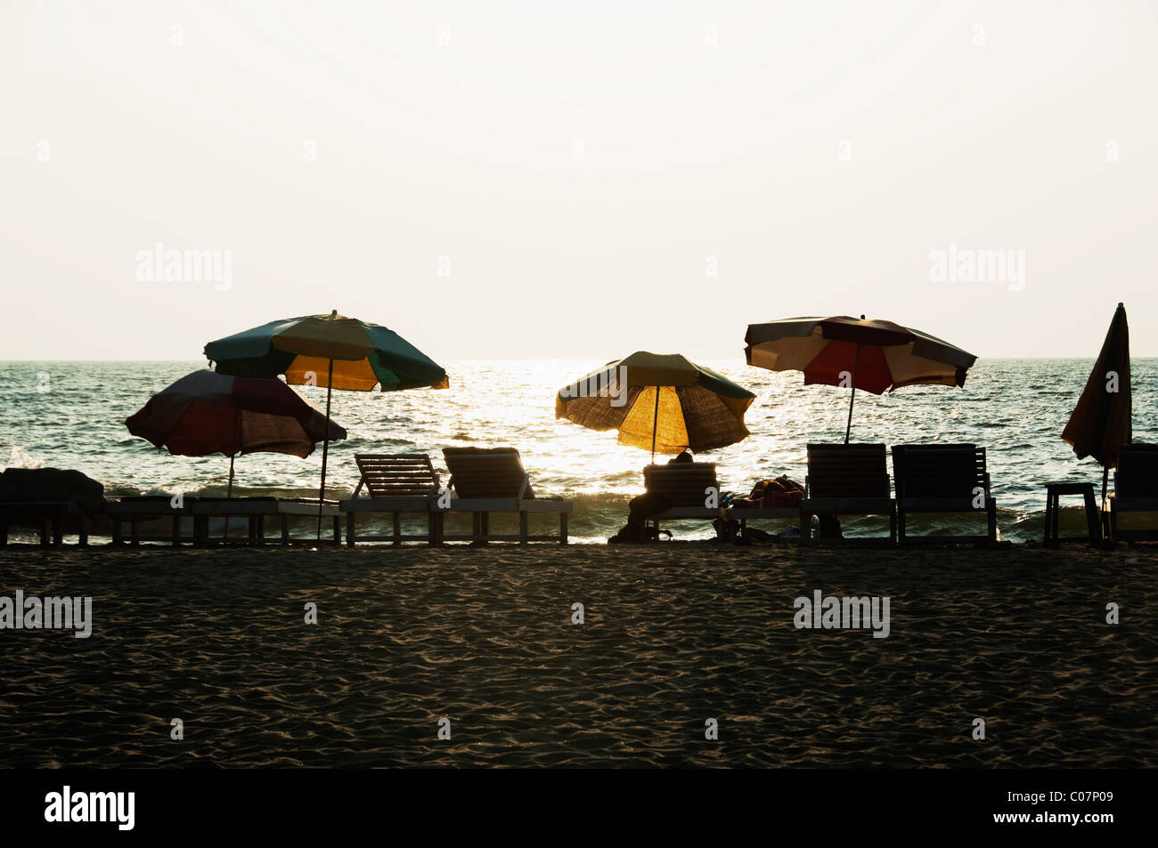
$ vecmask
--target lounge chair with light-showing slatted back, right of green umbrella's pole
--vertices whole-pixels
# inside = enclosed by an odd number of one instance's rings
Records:
[[[437,545],[442,530],[442,514],[431,509],[439,494],[438,472],[425,454],[356,454],[361,478],[354,493],[338,504],[346,516],[346,545],[354,546],[359,513],[389,513],[394,521],[390,536],[362,536],[362,541],[427,541]],[[362,486],[367,497],[359,497]],[[426,516],[424,536],[403,536],[400,515],[419,513]]]

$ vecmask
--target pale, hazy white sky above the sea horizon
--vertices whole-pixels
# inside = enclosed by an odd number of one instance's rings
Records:
[[[1156,80],[1138,1],[5,0],[0,360],[332,309],[439,361],[1094,356],[1119,301],[1155,356]]]

